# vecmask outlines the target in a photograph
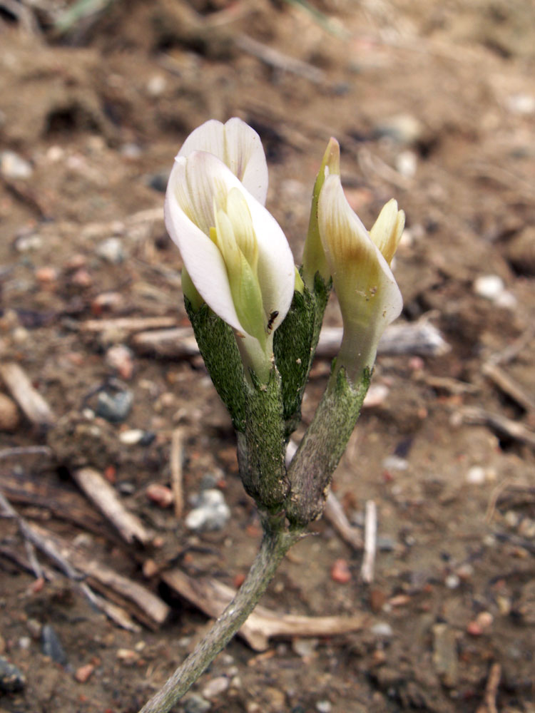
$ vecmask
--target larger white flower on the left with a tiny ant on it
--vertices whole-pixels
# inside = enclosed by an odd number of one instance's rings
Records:
[[[272,333],[292,302],[295,265],[284,233],[262,202],[267,169],[254,137],[239,119],[210,121],[195,130],[175,158],[165,225],[188,279],[235,329],[242,354],[245,349],[250,366],[265,378]]]

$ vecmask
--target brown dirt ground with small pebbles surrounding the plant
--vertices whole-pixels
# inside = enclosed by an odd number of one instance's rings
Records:
[[[1,713],[136,713],[208,621],[165,572],[236,586],[255,555],[260,525],[200,358],[143,354],[136,329],[90,328],[188,325],[163,190],[190,130],[230,116],[263,139],[267,205],[296,262],[330,135],[367,226],[397,199],[401,319],[429,319],[451,348],[379,358],[382,398],[335,474],[355,527],[377,505],[372,583],[362,551],[322,520],[263,599],[299,615],[362,613],[362,627],[272,639],[265,652],[236,639],[174,710],[534,713],[532,0],[116,0],[60,32],[66,5],[0,2],[0,358],[54,414],[31,424],[0,381],[0,490],[26,523],[170,613],[156,625],[115,597],[135,617],[118,626],[40,550],[49,578],[26,570],[16,520],[0,518],[0,655],[25,677],[19,690],[4,681]],[[305,422],[328,369],[318,359]],[[95,417],[103,391],[131,397],[126,416]],[[216,488],[230,508],[218,530],[192,531],[149,497],[170,484],[176,429],[185,515]],[[125,543],[78,489],[84,463],[151,530],[145,545]]]

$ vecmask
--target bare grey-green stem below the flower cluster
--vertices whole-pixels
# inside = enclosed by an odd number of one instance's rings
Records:
[[[263,540],[243,585],[203,641],[139,713],[168,713],[238,632],[265,592],[282,558],[302,537],[302,529],[288,530],[281,516],[265,513],[261,516]]]

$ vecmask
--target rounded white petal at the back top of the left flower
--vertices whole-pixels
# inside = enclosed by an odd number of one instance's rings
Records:
[[[178,156],[187,158],[193,151],[217,156],[256,200],[265,205],[267,163],[260,136],[245,121],[232,118],[223,124],[215,119],[196,128],[183,143]]]

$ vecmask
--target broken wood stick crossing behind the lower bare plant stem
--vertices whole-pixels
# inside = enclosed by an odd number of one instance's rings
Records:
[[[163,573],[163,581],[181,597],[206,615],[217,618],[230,603],[235,590],[213,578],[191,578],[181,570]],[[257,605],[238,634],[255,651],[265,651],[271,637],[333,636],[357,631],[367,622],[366,615],[352,617],[305,617],[280,614]]]

